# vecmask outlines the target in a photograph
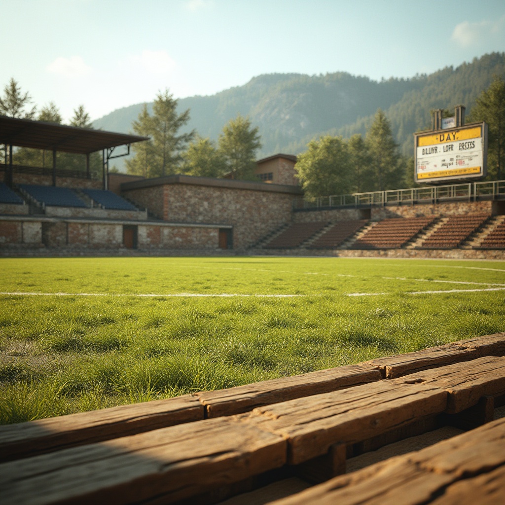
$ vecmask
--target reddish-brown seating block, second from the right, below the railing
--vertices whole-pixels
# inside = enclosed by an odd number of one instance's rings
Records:
[[[451,216],[421,244],[421,247],[423,249],[452,249],[458,247],[489,218],[488,214]]]

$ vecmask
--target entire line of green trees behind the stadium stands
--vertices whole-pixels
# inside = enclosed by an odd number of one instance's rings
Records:
[[[178,100],[168,90],[156,96],[153,113],[144,104],[133,131],[148,137],[133,144],[134,157],[126,161],[128,173],[144,177],[187,174],[201,177],[231,177],[255,180],[256,153],[261,148],[258,127],[240,114],[222,129],[218,141],[203,138],[195,130],[180,133],[189,120],[189,109],[179,113]],[[23,93],[14,79],[0,97],[0,114],[62,124],[54,103],[36,113],[28,93]],[[468,115],[470,121],[486,121],[489,126],[488,176],[500,179],[505,164],[505,82],[495,76],[491,85],[476,99]],[[81,105],[74,110],[70,124],[90,128],[89,115]],[[20,148],[18,164],[41,163],[44,153]],[[67,166],[75,156],[59,153]],[[66,158],[65,158],[66,157]],[[20,163],[22,162],[22,163]],[[99,163],[99,160],[96,160]],[[40,166],[40,165],[39,165]],[[414,158],[400,154],[394,141],[391,123],[378,109],[365,135],[348,139],[325,135],[311,140],[298,155],[297,177],[308,196],[381,191],[414,185]]]

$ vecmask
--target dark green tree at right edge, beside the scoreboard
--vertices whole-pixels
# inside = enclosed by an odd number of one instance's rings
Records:
[[[491,85],[477,98],[471,121],[485,121],[489,127],[488,168],[490,179],[501,179],[505,168],[505,81],[495,76]]]

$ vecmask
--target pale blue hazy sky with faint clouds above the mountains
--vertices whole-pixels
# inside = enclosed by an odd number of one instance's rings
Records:
[[[503,0],[0,0],[11,78],[64,121],[267,73],[412,77],[505,52]]]

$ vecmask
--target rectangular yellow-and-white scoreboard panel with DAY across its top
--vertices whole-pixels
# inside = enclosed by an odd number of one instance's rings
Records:
[[[485,177],[487,124],[415,133],[416,182],[440,182]]]

